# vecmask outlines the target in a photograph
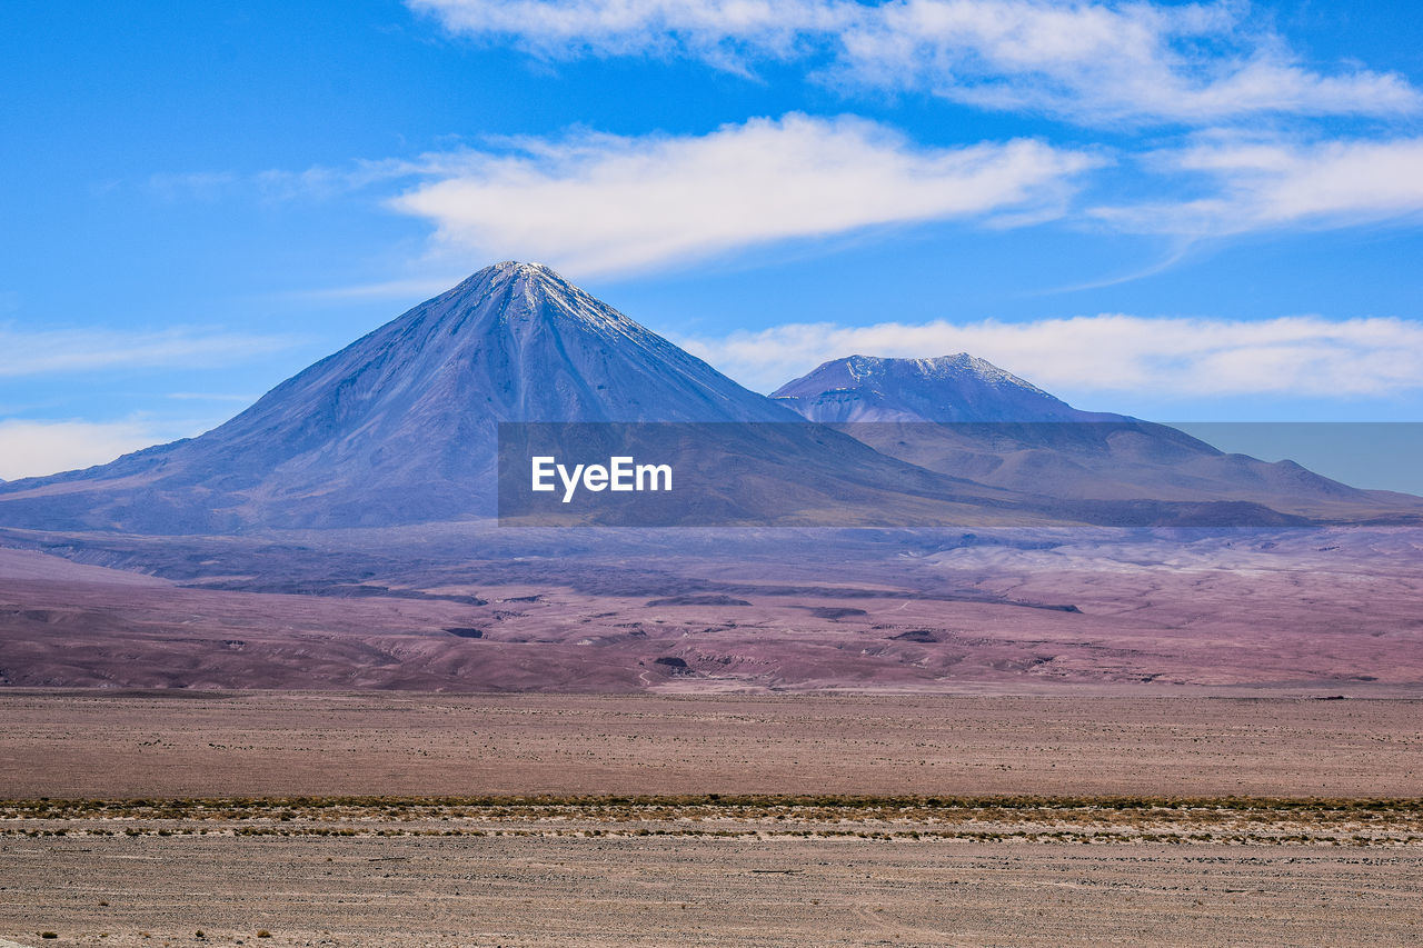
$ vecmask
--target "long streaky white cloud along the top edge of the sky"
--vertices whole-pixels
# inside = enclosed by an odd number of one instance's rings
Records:
[[[1397,74],[1302,65],[1247,3],[1054,0],[407,0],[451,33],[546,58],[683,56],[747,71],[805,60],[831,83],[926,90],[1084,122],[1419,108]]]

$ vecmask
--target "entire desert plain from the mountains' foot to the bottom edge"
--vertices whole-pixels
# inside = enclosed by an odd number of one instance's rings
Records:
[[[1410,528],[43,539],[0,944],[1423,938]]]

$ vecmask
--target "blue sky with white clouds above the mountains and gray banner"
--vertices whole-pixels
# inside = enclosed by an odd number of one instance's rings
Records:
[[[758,390],[969,350],[1143,417],[1423,421],[1405,3],[14,0],[0,168],[6,478],[499,259]]]

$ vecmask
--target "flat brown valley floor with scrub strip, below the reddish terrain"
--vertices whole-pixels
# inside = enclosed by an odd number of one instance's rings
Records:
[[[16,689],[0,938],[1416,944],[1420,722],[1286,696]]]

